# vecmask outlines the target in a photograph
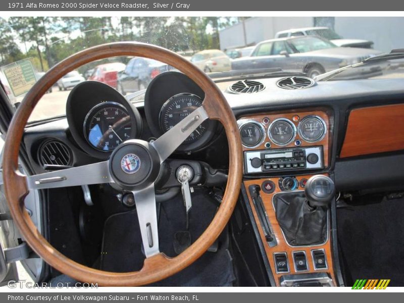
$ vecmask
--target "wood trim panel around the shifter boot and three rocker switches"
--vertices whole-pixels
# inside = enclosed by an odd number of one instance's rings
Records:
[[[296,179],[298,181],[300,181],[301,179],[309,179],[311,177],[311,175],[306,175],[306,176],[297,176]],[[264,207],[265,210],[267,212],[268,215],[268,219],[272,225],[272,229],[274,231],[275,234],[275,238],[278,242],[278,245],[274,246],[274,247],[270,247],[267,244],[267,241],[265,239],[263,230],[262,230],[262,226],[260,224],[257,212],[255,210],[254,204],[252,203],[251,200],[251,196],[249,194],[249,190],[248,190],[248,186],[253,185],[253,184],[257,184],[260,185],[266,181],[266,180],[271,180],[275,183],[276,185],[276,189],[273,193],[265,193],[264,191],[260,191],[261,194],[261,198],[263,200],[264,203]],[[254,218],[256,220],[257,226],[258,226],[258,230],[260,232],[260,236],[261,236],[261,240],[264,244],[265,247],[265,251],[268,257],[268,261],[271,265],[271,270],[272,270],[272,274],[275,278],[275,282],[276,282],[276,286],[280,286],[280,277],[283,275],[290,275],[290,274],[299,274],[299,273],[317,273],[317,272],[326,272],[330,275],[330,277],[332,278],[332,280],[334,281],[334,284],[336,283],[335,280],[335,276],[334,276],[334,267],[333,267],[333,259],[332,259],[332,254],[331,254],[331,232],[330,232],[330,226],[328,227],[328,240],[325,244],[323,245],[315,245],[315,246],[295,246],[292,247],[290,246],[283,234],[282,234],[282,230],[281,227],[278,224],[278,220],[276,219],[276,215],[275,215],[275,210],[274,207],[272,205],[272,197],[274,196],[274,194],[282,192],[279,189],[278,186],[278,181],[279,178],[266,178],[266,179],[256,179],[256,180],[245,180],[244,182],[244,186],[246,188],[247,191],[247,195],[248,195],[248,200],[249,200],[249,204],[251,206],[252,209],[252,213],[254,214]],[[301,190],[302,188],[299,186],[298,190]],[[311,251],[313,249],[324,249],[326,257],[327,257],[327,263],[328,263],[328,269],[324,269],[324,270],[314,270],[314,265],[313,265],[313,258],[312,258],[312,253]],[[307,262],[308,262],[308,267],[309,267],[309,271],[305,271],[305,272],[296,272],[294,270],[294,265],[293,265],[293,256],[292,256],[292,252],[293,251],[302,251],[304,250],[306,252],[306,257],[307,257]],[[281,274],[277,274],[275,272],[275,261],[274,261],[274,253],[276,252],[286,252],[287,254],[287,258],[288,258],[288,262],[289,262],[289,268],[290,268],[290,272],[289,273],[281,273]]]

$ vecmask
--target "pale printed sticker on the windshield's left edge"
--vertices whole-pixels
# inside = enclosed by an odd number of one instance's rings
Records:
[[[15,96],[26,93],[36,82],[34,68],[29,59],[6,65],[2,70]]]

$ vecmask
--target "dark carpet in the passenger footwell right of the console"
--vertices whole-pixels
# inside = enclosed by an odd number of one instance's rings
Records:
[[[404,286],[404,199],[371,202],[337,210],[347,286],[356,279],[391,279],[389,286]]]

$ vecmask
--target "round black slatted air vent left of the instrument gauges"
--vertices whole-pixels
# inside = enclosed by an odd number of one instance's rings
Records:
[[[48,140],[39,148],[38,158],[42,165],[71,165],[72,151],[62,141]]]

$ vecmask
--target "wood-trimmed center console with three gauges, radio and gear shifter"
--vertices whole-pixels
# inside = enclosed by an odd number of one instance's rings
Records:
[[[275,284],[334,286],[328,209],[334,191],[327,177],[332,115],[269,113],[242,117],[238,125],[247,209]]]

